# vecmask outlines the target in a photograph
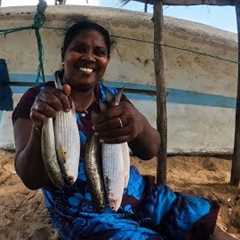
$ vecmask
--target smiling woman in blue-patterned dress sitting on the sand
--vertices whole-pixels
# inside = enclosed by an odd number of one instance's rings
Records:
[[[95,131],[106,143],[127,141],[133,154],[142,159],[150,159],[160,150],[158,132],[126,97],[119,106],[99,113],[93,125],[90,116],[92,111],[98,111],[98,102],[105,100],[107,92],[117,93],[101,82],[110,50],[110,36],[102,26],[81,21],[69,28],[62,48],[63,91],[55,89],[51,82],[34,87],[24,94],[14,111],[17,174],[28,188],[42,188],[61,239],[208,239],[216,223],[216,204],[150,184],[135,167],[131,167],[118,212],[96,212],[82,150],[76,183],[62,189],[52,186],[41,158],[41,127],[56,112],[69,111],[71,101],[76,108],[81,149]]]

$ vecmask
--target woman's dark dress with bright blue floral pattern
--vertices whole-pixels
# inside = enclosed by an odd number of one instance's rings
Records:
[[[13,121],[29,116],[39,89],[35,87],[25,93],[14,111]],[[100,82],[97,100],[105,101],[108,91],[117,93]],[[90,106],[88,113],[77,112],[81,140],[77,181],[62,189],[42,189],[60,239],[207,240],[216,224],[218,205],[201,197],[175,193],[165,185],[157,186],[134,166],[130,169],[120,209],[96,211],[85,173],[84,148],[93,131],[90,113],[98,107],[97,102]]]

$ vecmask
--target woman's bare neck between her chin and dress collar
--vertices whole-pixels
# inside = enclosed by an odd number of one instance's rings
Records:
[[[71,97],[75,104],[76,111],[84,112],[95,101],[95,92],[93,89],[88,91],[78,91],[72,89]]]

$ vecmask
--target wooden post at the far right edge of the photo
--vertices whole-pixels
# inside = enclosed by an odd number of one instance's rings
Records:
[[[234,153],[232,159],[231,184],[238,186],[240,182],[240,3],[236,3],[237,27],[238,27],[238,86],[236,103],[236,123]]]

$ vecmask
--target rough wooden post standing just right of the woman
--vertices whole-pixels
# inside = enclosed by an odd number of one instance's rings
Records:
[[[157,88],[157,128],[161,137],[157,162],[157,184],[167,181],[167,109],[162,47],[163,7],[162,0],[154,3],[154,67]]]

